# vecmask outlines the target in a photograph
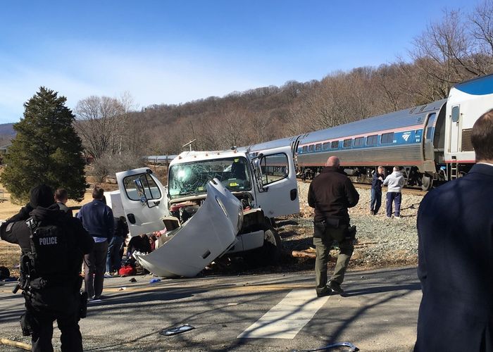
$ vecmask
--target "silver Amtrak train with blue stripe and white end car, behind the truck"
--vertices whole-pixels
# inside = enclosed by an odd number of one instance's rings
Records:
[[[470,131],[493,108],[493,75],[456,84],[447,99],[345,125],[244,147],[253,156],[291,146],[301,177],[314,177],[338,156],[356,182],[368,182],[377,165],[398,165],[408,186],[430,189],[464,175],[475,163]]]

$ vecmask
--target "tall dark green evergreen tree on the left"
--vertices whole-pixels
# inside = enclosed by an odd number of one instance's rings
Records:
[[[4,158],[0,182],[13,201],[27,201],[30,189],[48,184],[65,188],[68,198],[81,201],[85,192],[82,142],[74,130],[75,115],[65,106],[65,96],[40,87],[24,103],[24,118],[13,128],[17,136]]]

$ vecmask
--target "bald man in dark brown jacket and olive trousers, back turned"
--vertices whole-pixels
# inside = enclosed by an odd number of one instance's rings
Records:
[[[356,206],[359,194],[351,180],[339,171],[339,158],[331,156],[320,175],[315,177],[308,189],[308,205],[315,208],[313,244],[316,246],[315,277],[317,296],[327,296],[332,291],[344,293],[341,284],[351,255],[354,238],[347,236],[349,213],[347,208]],[[327,286],[327,263],[332,242],[339,243],[334,275]]]

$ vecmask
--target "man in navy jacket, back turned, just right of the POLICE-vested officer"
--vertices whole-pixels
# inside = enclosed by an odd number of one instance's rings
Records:
[[[113,237],[113,211],[104,203],[104,189],[94,187],[93,201],[80,208],[77,218],[94,239],[94,249],[84,257],[85,291],[90,299],[100,299],[104,284],[104,266],[108,241]]]

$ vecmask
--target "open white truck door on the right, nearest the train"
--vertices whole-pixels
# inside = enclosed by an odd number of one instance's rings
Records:
[[[256,204],[268,218],[299,213],[299,192],[291,146],[269,149],[252,162]]]

